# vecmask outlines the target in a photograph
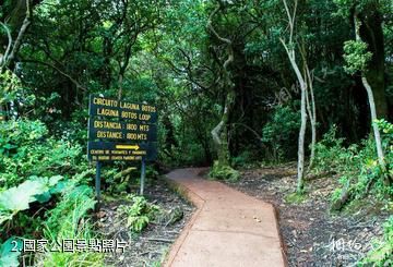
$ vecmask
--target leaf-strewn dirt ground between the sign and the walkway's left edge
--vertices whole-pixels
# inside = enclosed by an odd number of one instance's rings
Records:
[[[176,240],[187,221],[190,219],[193,207],[172,192],[163,179],[154,181],[145,189],[146,198],[158,205],[164,210],[181,208],[183,216],[181,220],[167,224],[151,223],[140,234],[131,233],[126,227],[126,222],[117,218],[117,208],[124,201],[108,202],[100,209],[98,221],[99,232],[105,239],[124,240],[129,246],[124,253],[106,254],[105,263],[107,266],[160,266],[169,246]]]

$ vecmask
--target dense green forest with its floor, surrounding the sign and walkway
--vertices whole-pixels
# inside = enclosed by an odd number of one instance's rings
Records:
[[[196,167],[275,205],[289,266],[393,265],[392,0],[0,3],[0,267],[162,266],[193,213],[165,173]],[[104,162],[98,211],[91,96],[157,111],[145,195]],[[111,226],[151,253],[37,252]]]

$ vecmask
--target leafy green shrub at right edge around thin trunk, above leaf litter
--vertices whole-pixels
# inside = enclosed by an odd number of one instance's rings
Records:
[[[389,185],[393,167],[393,125],[383,120],[374,123],[383,133],[385,168],[378,163],[372,137],[360,146],[344,147],[344,139],[336,137],[336,128],[333,126],[315,145],[314,171],[335,171],[342,175],[342,187],[332,194],[332,207],[336,209],[341,209],[345,202],[359,199],[370,192],[381,201],[393,197],[393,189]]]

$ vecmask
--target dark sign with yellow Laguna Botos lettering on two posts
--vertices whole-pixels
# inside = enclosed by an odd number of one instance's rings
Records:
[[[143,195],[146,161],[157,157],[156,107],[91,95],[88,114],[87,158],[96,162],[98,205],[103,161],[141,161],[140,194]]]

